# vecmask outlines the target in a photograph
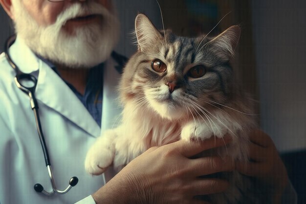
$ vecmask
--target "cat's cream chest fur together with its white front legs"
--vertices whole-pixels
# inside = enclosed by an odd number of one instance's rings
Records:
[[[221,155],[246,159],[247,132],[255,127],[255,121],[241,113],[231,116],[222,111],[212,115],[189,116],[179,120],[165,117],[148,106],[150,102],[127,103],[123,110],[122,123],[116,129],[106,132],[91,147],[87,154],[86,170],[90,174],[101,174],[112,162],[115,169],[120,170],[132,159],[139,156],[152,146],[162,146],[179,139],[208,139],[211,136],[222,137],[225,134],[233,136],[233,144],[222,150]],[[193,113],[195,114],[195,113]],[[106,153],[107,152],[107,153]],[[103,155],[104,153],[104,155]],[[106,153],[106,154],[105,154]],[[99,166],[98,166],[99,165]]]

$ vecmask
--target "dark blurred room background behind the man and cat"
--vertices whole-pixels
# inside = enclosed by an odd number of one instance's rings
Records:
[[[239,83],[258,100],[262,130],[274,140],[290,179],[306,204],[306,1],[305,0],[159,0],[165,28],[176,34],[217,35],[231,25],[242,28],[233,66]],[[134,19],[146,14],[161,29],[155,0],[115,0],[121,20],[116,51],[126,56],[132,45]],[[0,51],[13,34],[0,8]],[[0,131],[1,134],[1,131]]]

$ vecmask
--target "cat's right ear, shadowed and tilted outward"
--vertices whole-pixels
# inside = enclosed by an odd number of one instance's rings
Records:
[[[214,48],[217,48],[218,55],[221,58],[229,60],[235,55],[235,48],[238,45],[240,33],[240,26],[233,25],[211,40],[210,43],[214,45]]]

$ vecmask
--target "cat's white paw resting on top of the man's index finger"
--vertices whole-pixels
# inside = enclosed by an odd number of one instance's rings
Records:
[[[227,133],[227,129],[219,122],[191,120],[183,128],[181,138],[187,141],[194,139],[208,139],[211,136],[222,137]]]

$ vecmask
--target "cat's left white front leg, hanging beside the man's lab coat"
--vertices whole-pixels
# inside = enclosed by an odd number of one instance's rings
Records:
[[[112,164],[115,155],[115,130],[108,130],[97,138],[85,159],[85,170],[92,175],[100,175]]]

